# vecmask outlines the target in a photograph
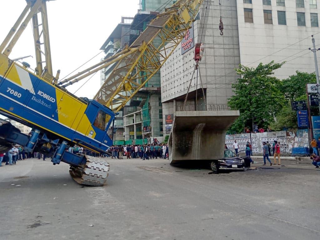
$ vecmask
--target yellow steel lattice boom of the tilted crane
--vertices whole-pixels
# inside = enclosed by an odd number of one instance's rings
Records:
[[[136,94],[183,39],[203,0],[180,0],[150,22],[120,56],[94,99],[117,112]],[[105,64],[104,67],[109,64]]]

